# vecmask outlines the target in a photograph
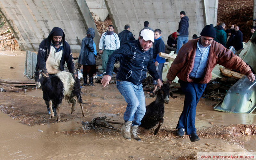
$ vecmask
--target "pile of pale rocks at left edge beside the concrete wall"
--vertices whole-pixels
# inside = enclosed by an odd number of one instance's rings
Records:
[[[20,46],[9,28],[0,32],[0,51],[20,51]]]

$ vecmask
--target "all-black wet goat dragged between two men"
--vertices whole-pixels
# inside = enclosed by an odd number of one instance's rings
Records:
[[[177,96],[172,95],[169,83],[163,84],[161,89],[157,88],[155,95],[156,100],[146,106],[146,113],[141,120],[140,126],[145,129],[151,129],[158,123],[158,126],[154,132],[156,135],[160,126],[164,122],[164,103],[169,103],[169,95],[171,95],[172,98],[177,98]]]

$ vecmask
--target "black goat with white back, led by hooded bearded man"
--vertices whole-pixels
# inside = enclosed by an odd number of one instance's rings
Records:
[[[75,112],[75,96],[81,106],[82,116],[85,117],[84,108],[82,105],[83,100],[81,97],[81,85],[78,78],[75,79],[71,73],[66,71],[62,71],[51,77],[37,71],[33,74],[33,77],[36,81],[36,87],[39,88],[42,85],[44,100],[48,101],[51,117],[54,117],[52,104],[57,106],[56,121],[60,122],[60,107],[64,98],[68,101],[68,103],[72,103],[71,114]]]

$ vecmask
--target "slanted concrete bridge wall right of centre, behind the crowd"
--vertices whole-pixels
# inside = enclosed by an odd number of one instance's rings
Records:
[[[105,0],[105,4],[118,33],[129,24],[130,31],[138,37],[147,20],[149,27],[163,31],[165,43],[177,31],[181,11],[189,18],[189,39],[193,34],[199,36],[206,24],[217,23],[218,0]]]

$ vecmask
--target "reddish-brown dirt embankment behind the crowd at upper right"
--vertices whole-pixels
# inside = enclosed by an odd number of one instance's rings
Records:
[[[226,28],[232,24],[240,27],[243,41],[248,42],[252,27],[253,0],[219,0],[217,23],[224,22]]]

